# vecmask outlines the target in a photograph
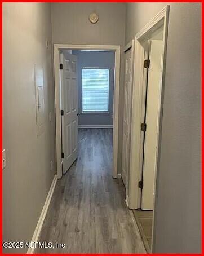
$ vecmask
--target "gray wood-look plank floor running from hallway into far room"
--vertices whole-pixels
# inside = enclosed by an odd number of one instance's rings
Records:
[[[121,179],[112,178],[112,129],[79,130],[78,160],[57,181],[34,253],[145,253]]]

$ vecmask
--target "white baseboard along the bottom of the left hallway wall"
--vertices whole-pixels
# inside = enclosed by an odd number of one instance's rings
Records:
[[[37,223],[36,229],[34,231],[34,234],[33,234],[31,242],[37,242],[38,241],[38,237],[39,237],[39,234],[41,233],[42,224],[43,224],[43,221],[44,221],[44,219],[46,217],[47,209],[48,209],[48,206],[50,205],[50,201],[51,201],[54,189],[55,189],[56,182],[57,182],[57,175],[55,175],[54,179],[52,180],[52,184],[50,186],[50,190],[49,190],[49,192],[47,194],[47,198],[46,198],[45,204],[43,206],[43,209],[41,211],[41,215],[40,215],[40,217],[38,219],[38,223]],[[35,250],[35,248],[29,248],[27,253],[33,254],[34,250]]]

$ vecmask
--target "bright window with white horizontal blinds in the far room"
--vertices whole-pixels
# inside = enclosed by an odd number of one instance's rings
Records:
[[[109,69],[82,68],[82,112],[108,112]]]

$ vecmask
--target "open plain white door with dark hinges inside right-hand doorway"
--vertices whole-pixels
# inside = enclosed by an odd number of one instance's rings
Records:
[[[148,69],[147,107],[144,142],[143,189],[141,209],[153,210],[154,176],[157,164],[158,114],[161,90],[161,58],[163,41],[153,40],[150,46],[150,67]]]

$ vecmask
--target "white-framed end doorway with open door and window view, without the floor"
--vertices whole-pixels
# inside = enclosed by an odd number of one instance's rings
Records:
[[[57,178],[78,156],[78,129],[80,140],[87,129],[110,129],[118,178],[120,46],[54,45],[54,67]]]

